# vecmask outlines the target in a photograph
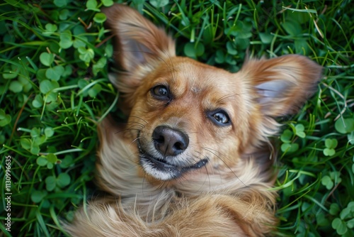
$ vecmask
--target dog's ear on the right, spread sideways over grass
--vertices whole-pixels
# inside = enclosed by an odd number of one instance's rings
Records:
[[[301,55],[249,60],[241,75],[267,116],[293,114],[316,92],[322,67]]]

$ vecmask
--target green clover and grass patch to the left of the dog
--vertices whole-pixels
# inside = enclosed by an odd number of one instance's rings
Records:
[[[85,10],[69,0],[1,4],[1,162],[12,158],[11,232],[3,224],[1,231],[8,236],[61,235],[58,219],[92,192],[96,121],[116,92],[106,79],[113,48],[103,41],[105,15]]]

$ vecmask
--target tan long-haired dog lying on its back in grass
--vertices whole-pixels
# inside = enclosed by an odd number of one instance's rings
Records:
[[[72,236],[270,236],[276,229],[275,118],[316,92],[322,67],[302,55],[249,58],[227,72],[175,54],[134,9],[103,12],[115,36],[127,123],[98,127],[96,182]]]

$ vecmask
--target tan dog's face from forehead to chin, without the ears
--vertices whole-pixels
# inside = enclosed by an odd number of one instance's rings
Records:
[[[183,57],[161,62],[144,77],[128,124],[136,128],[132,136],[145,172],[171,180],[205,165],[232,165],[249,127],[248,98],[238,81]]]

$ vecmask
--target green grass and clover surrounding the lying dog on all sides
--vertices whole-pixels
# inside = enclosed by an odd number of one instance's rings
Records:
[[[128,1],[177,38],[178,55],[237,71],[254,57],[307,55],[319,92],[282,121],[278,236],[354,236],[354,8],[348,1]],[[277,4],[273,4],[277,3]],[[0,196],[11,155],[11,232],[62,236],[95,192],[97,121],[115,111],[110,1],[0,4]]]

